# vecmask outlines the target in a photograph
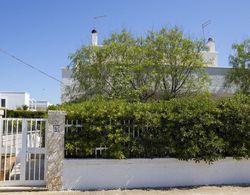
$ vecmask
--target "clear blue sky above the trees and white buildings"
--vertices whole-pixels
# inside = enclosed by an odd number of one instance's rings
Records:
[[[61,79],[68,55],[90,43],[93,17],[100,41],[127,28],[135,35],[177,25],[193,38],[213,37],[220,66],[231,45],[250,35],[249,0],[1,0],[0,48]],[[0,53],[0,91],[26,91],[60,103],[60,84]]]

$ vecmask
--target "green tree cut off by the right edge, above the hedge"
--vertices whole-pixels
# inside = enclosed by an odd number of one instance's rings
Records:
[[[233,69],[226,77],[226,87],[236,86],[239,92],[250,93],[250,39],[242,43],[233,44],[234,53],[230,55]]]

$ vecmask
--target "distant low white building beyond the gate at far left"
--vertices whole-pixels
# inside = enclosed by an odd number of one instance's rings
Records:
[[[48,101],[36,101],[26,92],[0,92],[0,108],[15,110],[27,106],[29,110],[46,110]]]

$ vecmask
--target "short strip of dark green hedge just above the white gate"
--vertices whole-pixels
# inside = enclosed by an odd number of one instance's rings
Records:
[[[8,118],[46,118],[46,111],[7,110]]]

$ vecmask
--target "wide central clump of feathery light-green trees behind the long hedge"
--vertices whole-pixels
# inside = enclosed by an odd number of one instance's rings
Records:
[[[147,101],[196,93],[206,81],[202,48],[178,28],[145,37],[122,30],[102,46],[83,46],[70,56],[74,84],[68,94]]]

